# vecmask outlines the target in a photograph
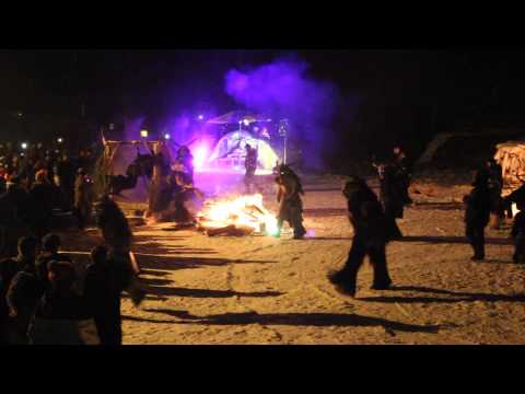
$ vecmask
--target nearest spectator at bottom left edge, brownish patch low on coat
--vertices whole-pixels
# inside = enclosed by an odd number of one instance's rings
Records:
[[[100,345],[95,321],[85,299],[73,291],[69,262],[48,264],[49,288],[35,306],[28,327],[32,345]]]

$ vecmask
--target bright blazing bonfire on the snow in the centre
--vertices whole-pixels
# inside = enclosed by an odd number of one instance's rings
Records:
[[[277,219],[265,209],[260,194],[209,200],[197,220],[199,230],[206,231],[210,236],[278,233]]]

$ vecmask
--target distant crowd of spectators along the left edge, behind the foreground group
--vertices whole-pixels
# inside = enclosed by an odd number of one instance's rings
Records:
[[[50,231],[54,210],[72,212],[84,229],[93,204],[93,163],[89,149],[71,159],[63,148],[42,143],[23,151],[0,146],[0,257],[15,254],[22,235],[42,240]]]

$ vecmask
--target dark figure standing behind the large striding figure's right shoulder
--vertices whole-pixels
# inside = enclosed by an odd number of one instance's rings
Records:
[[[398,177],[398,172],[394,165],[378,165],[380,176],[380,198],[383,204],[385,216],[388,219],[388,229],[393,240],[402,237],[402,233],[396,223],[397,218],[402,218],[406,204],[404,183]]]

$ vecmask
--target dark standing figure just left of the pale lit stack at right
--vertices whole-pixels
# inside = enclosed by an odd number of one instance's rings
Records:
[[[485,228],[490,219],[490,190],[489,174],[486,169],[476,172],[472,190],[464,197],[465,210],[465,235],[472,246],[472,260],[485,258]]]

